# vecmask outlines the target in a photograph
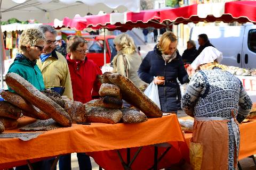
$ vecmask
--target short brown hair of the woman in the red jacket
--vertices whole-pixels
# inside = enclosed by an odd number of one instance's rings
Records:
[[[67,52],[75,52],[78,46],[83,47],[85,44],[87,44],[87,41],[82,37],[72,36],[68,41]]]

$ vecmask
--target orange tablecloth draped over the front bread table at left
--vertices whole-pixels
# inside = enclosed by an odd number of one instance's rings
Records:
[[[29,141],[0,139],[0,168],[25,164],[27,159],[71,152],[114,150],[164,142],[171,142],[177,150],[183,148],[183,152],[188,151],[175,114],[149,118],[147,122],[138,124],[73,124],[70,128],[48,131]]]

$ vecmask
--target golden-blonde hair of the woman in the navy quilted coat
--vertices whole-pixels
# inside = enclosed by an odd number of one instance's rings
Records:
[[[157,47],[161,50],[161,52],[168,52],[171,43],[177,41],[177,36],[174,35],[171,31],[166,31],[161,36]]]

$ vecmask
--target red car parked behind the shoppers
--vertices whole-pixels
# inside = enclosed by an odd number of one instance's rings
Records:
[[[113,52],[114,38],[116,36],[105,36],[106,38],[106,63],[111,61],[111,53]],[[94,61],[99,67],[104,65],[104,36],[101,35],[90,35],[83,36],[84,39],[88,41],[88,52],[86,54],[87,58]],[[140,55],[139,49],[137,48]]]

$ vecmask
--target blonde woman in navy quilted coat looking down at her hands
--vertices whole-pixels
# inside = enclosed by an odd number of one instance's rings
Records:
[[[181,84],[189,82],[184,63],[177,50],[177,37],[171,31],[166,31],[155,46],[143,59],[139,77],[146,83],[154,80],[158,85],[158,95],[163,112],[177,112],[180,109]]]

